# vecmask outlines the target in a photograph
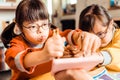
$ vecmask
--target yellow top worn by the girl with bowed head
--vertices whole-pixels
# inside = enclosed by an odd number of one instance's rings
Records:
[[[101,50],[108,51],[112,61],[106,68],[110,71],[120,71],[120,29],[116,29],[112,41]]]

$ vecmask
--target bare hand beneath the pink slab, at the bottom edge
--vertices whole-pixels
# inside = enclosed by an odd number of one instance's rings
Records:
[[[58,72],[54,75],[55,80],[93,80],[92,76],[83,69],[71,69]]]

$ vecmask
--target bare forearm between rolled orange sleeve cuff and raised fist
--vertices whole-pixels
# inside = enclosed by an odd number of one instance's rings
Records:
[[[36,66],[49,60],[49,56],[46,53],[42,53],[42,51],[34,51],[26,54],[24,58],[24,66],[26,68]]]

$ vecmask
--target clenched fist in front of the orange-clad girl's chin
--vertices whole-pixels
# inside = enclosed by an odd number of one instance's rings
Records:
[[[64,42],[65,38],[59,35],[58,29],[53,30],[53,36],[46,41],[44,51],[50,57],[61,57],[64,52]]]

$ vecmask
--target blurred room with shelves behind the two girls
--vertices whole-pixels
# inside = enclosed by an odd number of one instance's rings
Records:
[[[15,17],[16,6],[21,0],[0,0],[0,34]],[[120,0],[42,0],[50,15],[50,22],[61,30],[78,28],[80,12],[88,5],[99,4],[105,7],[120,26]],[[9,71],[4,62],[5,48],[0,41],[0,80],[2,73]],[[8,73],[10,76],[10,72]],[[8,76],[8,77],[9,77]],[[9,79],[3,79],[9,80]]]

